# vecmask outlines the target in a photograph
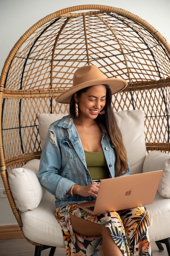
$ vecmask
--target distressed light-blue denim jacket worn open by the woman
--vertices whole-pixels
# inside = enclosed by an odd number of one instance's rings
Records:
[[[101,144],[110,178],[114,178],[115,150],[104,129]],[[38,178],[41,185],[55,196],[56,207],[96,199],[93,196],[67,194],[75,183],[81,186],[92,184],[81,140],[70,115],[50,125],[41,154]]]

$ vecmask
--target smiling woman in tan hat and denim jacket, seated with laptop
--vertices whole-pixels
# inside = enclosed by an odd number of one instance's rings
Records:
[[[70,103],[70,115],[50,125],[38,177],[56,198],[67,255],[152,255],[144,206],[95,216],[76,205],[95,200],[100,180],[129,175],[111,108],[112,94],[126,86],[89,65],[76,70],[73,87],[57,98]]]

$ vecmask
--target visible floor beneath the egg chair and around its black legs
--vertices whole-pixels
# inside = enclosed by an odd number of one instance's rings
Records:
[[[163,252],[159,252],[155,243],[151,243],[151,246],[153,256],[168,256],[165,244]],[[34,248],[25,238],[0,240],[0,256],[34,256]],[[41,256],[47,256],[49,250],[42,251]],[[65,249],[57,248],[54,256],[66,256]]]

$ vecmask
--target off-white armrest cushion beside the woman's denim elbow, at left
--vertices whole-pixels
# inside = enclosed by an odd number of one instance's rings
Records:
[[[45,189],[39,183],[37,173],[39,159],[33,159],[9,172],[8,180],[15,204],[21,212],[33,210],[39,205]]]

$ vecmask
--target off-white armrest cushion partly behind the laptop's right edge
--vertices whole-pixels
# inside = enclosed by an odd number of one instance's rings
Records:
[[[170,154],[151,151],[145,158],[143,172],[163,170],[158,191],[163,197],[170,198]]]

